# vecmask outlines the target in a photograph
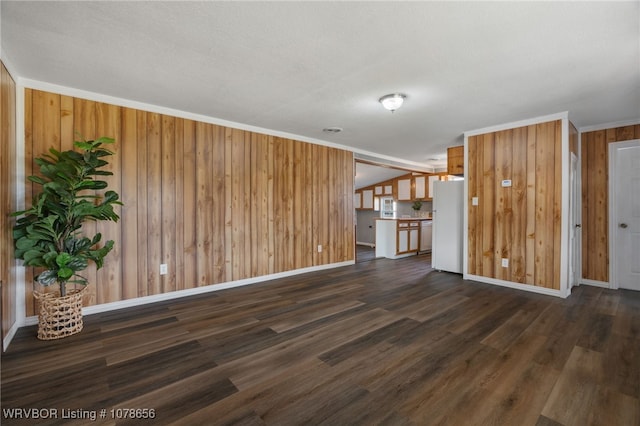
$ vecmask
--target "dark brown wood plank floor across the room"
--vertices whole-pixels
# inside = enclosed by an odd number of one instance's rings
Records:
[[[561,300],[463,281],[422,256],[34,336],[20,330],[2,356],[3,425],[56,423],[9,408],[98,410],[60,424],[640,424],[638,293],[582,286]],[[155,419],[116,422],[118,408]]]

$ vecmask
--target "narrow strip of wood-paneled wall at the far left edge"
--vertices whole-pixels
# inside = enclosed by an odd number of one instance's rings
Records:
[[[16,281],[12,226],[16,210],[16,84],[0,62],[0,334],[16,323]]]

